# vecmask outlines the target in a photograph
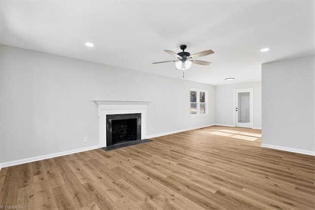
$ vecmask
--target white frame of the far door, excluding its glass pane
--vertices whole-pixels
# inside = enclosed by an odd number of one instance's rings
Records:
[[[236,122],[238,119],[238,112],[236,111],[236,107],[238,107],[238,104],[236,103],[236,101],[238,100],[237,94],[238,93],[246,93],[246,92],[250,92],[250,123],[249,124],[245,124],[240,126],[238,125],[239,122]],[[254,104],[254,95],[253,95],[253,88],[242,88],[242,89],[234,89],[233,90],[233,122],[234,122],[234,126],[235,127],[243,127],[243,128],[253,128],[254,122],[253,122],[253,112],[254,112],[254,108],[253,108],[253,104]]]

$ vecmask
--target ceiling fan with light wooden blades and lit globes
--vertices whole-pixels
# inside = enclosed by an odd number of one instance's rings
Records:
[[[176,69],[178,69],[178,70],[188,70],[191,67],[192,63],[198,64],[198,65],[203,65],[203,66],[209,66],[211,64],[210,62],[207,62],[207,61],[195,60],[195,58],[200,58],[200,57],[203,57],[206,55],[211,55],[211,54],[215,53],[214,51],[205,50],[205,51],[190,55],[189,52],[185,52],[186,48],[187,48],[186,45],[181,45],[181,50],[183,50],[183,52],[179,52],[177,54],[171,50],[164,50],[165,52],[177,57],[177,60],[175,60],[175,61],[161,61],[161,62],[155,62],[153,64],[176,62],[175,66],[176,66]]]

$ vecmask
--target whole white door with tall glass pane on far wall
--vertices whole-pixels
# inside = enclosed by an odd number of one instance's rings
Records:
[[[253,127],[253,89],[234,90],[234,119],[236,127]]]

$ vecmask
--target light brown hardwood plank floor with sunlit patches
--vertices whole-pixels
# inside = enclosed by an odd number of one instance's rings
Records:
[[[315,157],[212,126],[3,168],[0,205],[44,209],[315,209]],[[247,140],[244,140],[247,139]]]

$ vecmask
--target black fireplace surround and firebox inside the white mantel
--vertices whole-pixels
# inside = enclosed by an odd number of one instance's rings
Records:
[[[106,145],[141,140],[141,113],[106,115]]]

